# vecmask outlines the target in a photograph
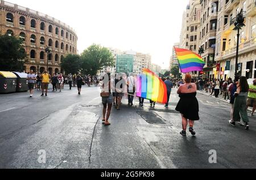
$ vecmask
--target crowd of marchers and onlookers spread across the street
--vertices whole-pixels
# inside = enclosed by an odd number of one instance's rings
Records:
[[[69,89],[77,87],[78,94],[81,95],[82,85],[95,85],[100,86],[102,89],[101,97],[103,107],[102,122],[105,126],[109,126],[109,117],[112,107],[120,110],[122,104],[122,98],[124,95],[128,97],[128,106],[133,106],[135,94],[135,76],[131,73],[129,76],[126,74],[117,74],[116,76],[110,76],[105,74],[103,77],[85,75],[81,76],[69,74],[67,76],[63,74],[49,75],[47,72],[43,74],[34,74],[31,70],[27,75],[28,88],[30,89],[30,97],[33,96],[34,87],[38,91],[42,91],[42,95],[47,96],[48,85],[52,84],[53,90],[64,88],[64,84],[69,84]],[[209,96],[216,98],[222,95],[225,100],[228,100],[232,105],[230,112],[230,125],[236,126],[236,122],[241,126],[245,126],[246,130],[249,130],[249,118],[247,116],[247,108],[253,106],[253,116],[256,110],[256,79],[253,84],[248,84],[247,79],[242,76],[239,79],[232,80],[231,78],[225,80],[219,79],[193,79],[190,74],[186,74],[184,79],[170,79],[170,77],[163,79],[167,87],[167,103],[165,105],[168,108],[170,95],[172,88],[177,88],[177,94],[180,97],[180,101],[176,106],[176,110],[181,113],[183,130],[181,135],[186,135],[187,125],[189,124],[189,132],[192,135],[196,135],[193,128],[194,122],[199,120],[199,103],[197,102],[196,93],[207,92]],[[143,106],[144,98],[139,97],[139,106]],[[155,107],[156,102],[150,100],[150,106]],[[241,121],[242,120],[242,121]]]

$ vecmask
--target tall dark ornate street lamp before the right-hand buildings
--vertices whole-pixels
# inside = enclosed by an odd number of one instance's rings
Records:
[[[234,31],[237,30],[237,53],[236,53],[236,68],[235,68],[235,79],[238,80],[238,50],[239,50],[239,37],[240,37],[240,29],[242,27],[245,27],[245,24],[243,22],[245,21],[245,17],[243,16],[243,9],[241,9],[240,13],[237,14],[236,22],[234,22]]]

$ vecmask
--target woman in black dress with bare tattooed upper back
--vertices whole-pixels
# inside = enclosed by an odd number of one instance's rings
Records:
[[[181,113],[183,130],[181,135],[186,135],[187,125],[189,123],[189,132],[196,135],[193,130],[194,122],[199,120],[199,103],[196,98],[196,84],[191,83],[192,76],[185,75],[185,84],[180,85],[177,90],[180,101],[176,106],[176,110]]]

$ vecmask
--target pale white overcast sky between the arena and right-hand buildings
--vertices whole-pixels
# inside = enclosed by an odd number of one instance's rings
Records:
[[[179,42],[188,0],[7,0],[53,16],[73,27],[81,53],[93,43],[150,53],[152,63],[168,68]]]

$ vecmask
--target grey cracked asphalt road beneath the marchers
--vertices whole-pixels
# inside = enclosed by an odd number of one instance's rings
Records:
[[[0,168],[256,168],[256,121],[250,130],[228,124],[230,105],[197,94],[200,121],[197,135],[181,136],[181,117],[170,107],[127,106],[112,109],[111,126],[101,123],[97,87],[83,87],[77,95],[65,87],[41,97],[28,93],[0,95]],[[250,114],[250,113],[249,113]],[[40,150],[46,163],[39,163]],[[209,151],[217,163],[209,163]]]

